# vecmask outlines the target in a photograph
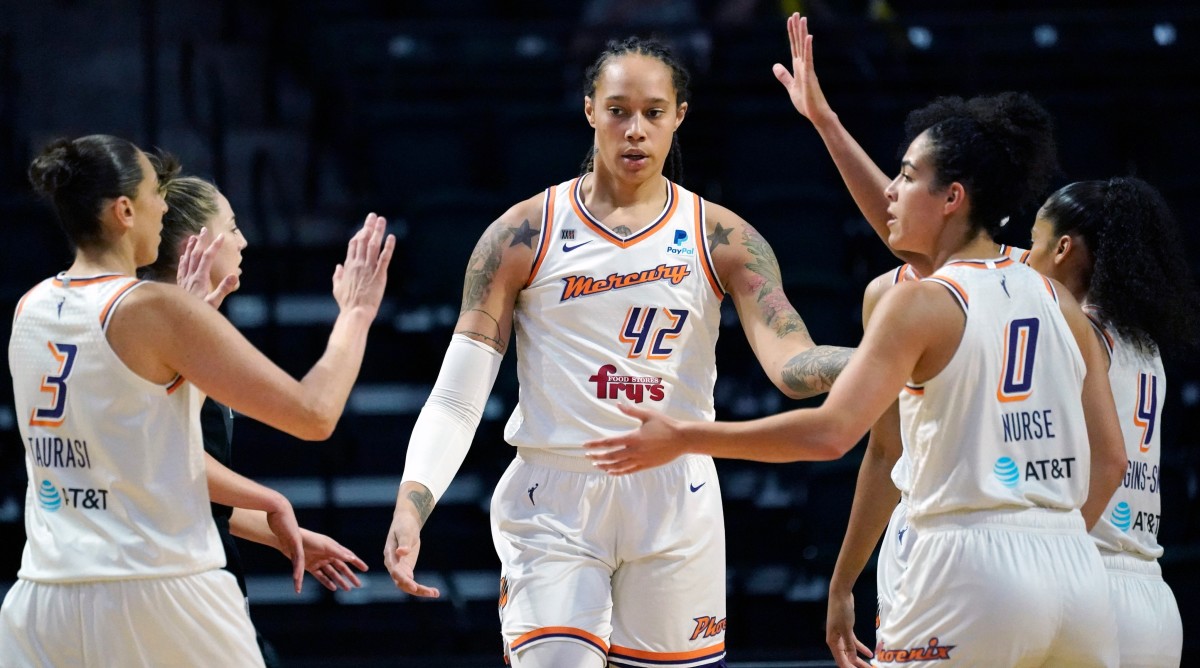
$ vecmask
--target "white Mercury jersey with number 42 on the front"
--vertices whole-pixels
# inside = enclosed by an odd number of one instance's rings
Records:
[[[521,389],[504,431],[515,446],[580,456],[584,441],[637,427],[620,403],[713,420],[724,297],[698,195],[664,180],[662,212],[622,237],[583,205],[583,179],[546,191],[516,302]]]

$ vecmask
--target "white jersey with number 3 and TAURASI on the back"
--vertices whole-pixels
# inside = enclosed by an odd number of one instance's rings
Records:
[[[137,375],[104,336],[140,284],[60,273],[17,305],[8,369],[29,474],[22,578],[145,578],[224,564],[204,476],[203,397],[181,378]]]

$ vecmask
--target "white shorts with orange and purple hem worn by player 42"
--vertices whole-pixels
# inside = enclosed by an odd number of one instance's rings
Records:
[[[619,667],[724,660],[725,523],[710,457],[610,476],[518,449],[491,513],[506,651],[566,640]]]

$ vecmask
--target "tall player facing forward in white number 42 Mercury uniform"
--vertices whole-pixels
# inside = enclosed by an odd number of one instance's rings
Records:
[[[586,73],[584,174],[496,221],[413,429],[384,560],[402,590],[420,529],[470,444],[515,327],[516,459],[492,497],[500,620],[517,668],[725,664],[725,536],[713,461],[628,479],[583,457],[636,421],[623,402],[712,420],[720,302],[785,393],[826,391],[848,350],[815,347],[762,236],[678,185],[688,74],[661,44],[610,43]]]

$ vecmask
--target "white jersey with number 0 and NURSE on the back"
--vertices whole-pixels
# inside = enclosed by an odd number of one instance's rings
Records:
[[[1054,285],[1010,258],[937,270],[966,314],[950,362],[900,396],[910,517],[1078,508],[1091,458],[1085,366]]]

